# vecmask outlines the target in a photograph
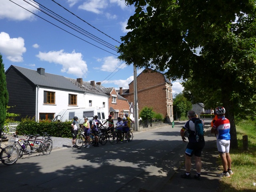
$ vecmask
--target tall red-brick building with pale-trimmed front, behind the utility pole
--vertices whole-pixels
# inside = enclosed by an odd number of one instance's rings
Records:
[[[119,94],[134,103],[134,82],[129,90],[118,90]],[[173,121],[172,83],[164,74],[146,68],[137,76],[138,108],[152,107],[161,113],[167,122]]]

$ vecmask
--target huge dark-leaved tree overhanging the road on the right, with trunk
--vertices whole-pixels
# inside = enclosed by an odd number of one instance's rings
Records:
[[[255,0],[126,0],[128,20],[119,58],[184,80],[194,102],[226,108],[231,147],[234,116],[252,112],[256,95]]]

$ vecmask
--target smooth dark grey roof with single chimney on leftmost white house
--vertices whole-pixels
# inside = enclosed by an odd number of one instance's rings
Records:
[[[67,80],[64,76],[54,75],[50,73],[40,75],[36,70],[11,65],[10,68],[12,67],[18,70],[22,75],[28,78],[28,80],[30,80],[35,85],[83,92],[80,88],[72,84],[72,82]],[[8,70],[10,70],[10,68],[8,68]],[[8,72],[8,70],[6,71],[6,73]]]

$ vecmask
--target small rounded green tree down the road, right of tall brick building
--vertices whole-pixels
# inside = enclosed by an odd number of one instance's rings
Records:
[[[175,94],[173,99],[173,112],[177,113],[178,117],[186,117],[187,112],[192,109],[192,104],[184,97],[184,94]],[[177,118],[178,118],[177,117]]]

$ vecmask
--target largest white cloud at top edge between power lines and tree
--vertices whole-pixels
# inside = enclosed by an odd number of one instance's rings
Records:
[[[102,13],[102,9],[108,6],[106,0],[87,0],[82,5],[78,6],[79,9],[94,12],[96,14]]]

